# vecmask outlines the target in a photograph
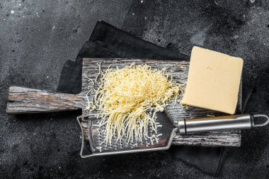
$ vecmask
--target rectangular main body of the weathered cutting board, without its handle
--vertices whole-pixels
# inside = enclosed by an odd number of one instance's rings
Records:
[[[173,75],[174,80],[179,83],[185,84],[188,78],[188,61],[177,61],[177,60],[129,60],[129,59],[100,59],[100,58],[84,58],[83,70],[82,70],[82,91],[88,91],[88,80],[86,77],[95,79],[98,74],[98,63],[101,64],[102,70],[108,67],[124,67],[131,63],[143,64],[147,63],[153,69],[162,69],[166,67],[167,71]],[[95,86],[97,87],[97,85]],[[90,93],[90,98],[93,97],[94,93]],[[178,99],[180,101],[181,98]],[[185,109],[181,104],[169,104],[166,107],[171,119],[177,124],[180,119],[193,119],[205,116],[218,116],[224,115],[220,112],[214,112],[207,109],[200,109],[195,107],[189,107]],[[239,92],[239,104],[237,105],[237,111],[241,111],[241,90]],[[85,110],[82,110],[84,115],[87,115]],[[82,121],[84,129],[84,139],[88,139],[88,120]],[[241,131],[212,131],[207,133],[199,134],[176,134],[173,139],[174,145],[195,145],[195,146],[240,146],[241,145]]]

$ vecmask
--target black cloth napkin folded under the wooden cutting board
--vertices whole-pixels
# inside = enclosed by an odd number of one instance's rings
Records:
[[[188,55],[161,48],[104,21],[98,21],[91,38],[79,51],[76,61],[67,61],[64,64],[57,92],[81,92],[82,58],[190,59]],[[206,173],[217,175],[226,152],[224,147],[172,146],[166,153],[175,160],[179,158]]]

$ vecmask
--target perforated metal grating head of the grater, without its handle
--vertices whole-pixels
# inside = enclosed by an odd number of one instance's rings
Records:
[[[173,136],[177,130],[176,126],[174,126],[173,121],[168,118],[165,112],[158,112],[156,114],[157,131],[152,131],[151,126],[149,126],[148,130],[148,136],[155,136],[154,139],[144,139],[142,141],[126,143],[125,141],[117,142],[115,136],[111,145],[105,144],[105,125],[98,127],[100,119],[96,119],[94,116],[79,116],[77,118],[79,124],[81,124],[81,118],[88,117],[88,141],[91,146],[91,154],[84,156],[84,136],[82,135],[81,157],[86,158],[90,156],[107,156],[120,153],[136,153],[168,149],[171,146]]]

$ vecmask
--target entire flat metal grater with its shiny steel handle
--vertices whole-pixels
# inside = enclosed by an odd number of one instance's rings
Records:
[[[156,138],[125,143],[124,141],[116,141],[115,136],[111,145],[105,144],[105,125],[98,127],[100,120],[96,119],[94,116],[79,116],[77,119],[81,131],[82,126],[80,119],[88,117],[88,141],[91,146],[91,154],[84,156],[84,136],[82,131],[81,157],[86,158],[90,156],[166,150],[171,146],[176,131],[180,134],[188,134],[201,131],[251,129],[253,127],[265,126],[269,123],[269,117],[265,114],[239,114],[198,119],[182,119],[178,121],[178,124],[173,124],[173,121],[171,121],[171,118],[165,112],[157,112],[156,115],[156,123],[158,124],[157,131],[152,131],[151,126],[148,126],[148,136],[156,136]],[[257,123],[257,118],[263,119],[263,123]]]

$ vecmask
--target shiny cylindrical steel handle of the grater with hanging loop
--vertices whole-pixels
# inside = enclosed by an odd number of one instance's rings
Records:
[[[255,124],[255,119],[263,117],[266,121]],[[216,116],[198,119],[182,119],[178,121],[178,132],[188,134],[200,131],[219,131],[228,129],[251,129],[252,127],[265,126],[269,117],[265,114],[239,114],[229,116]]]

